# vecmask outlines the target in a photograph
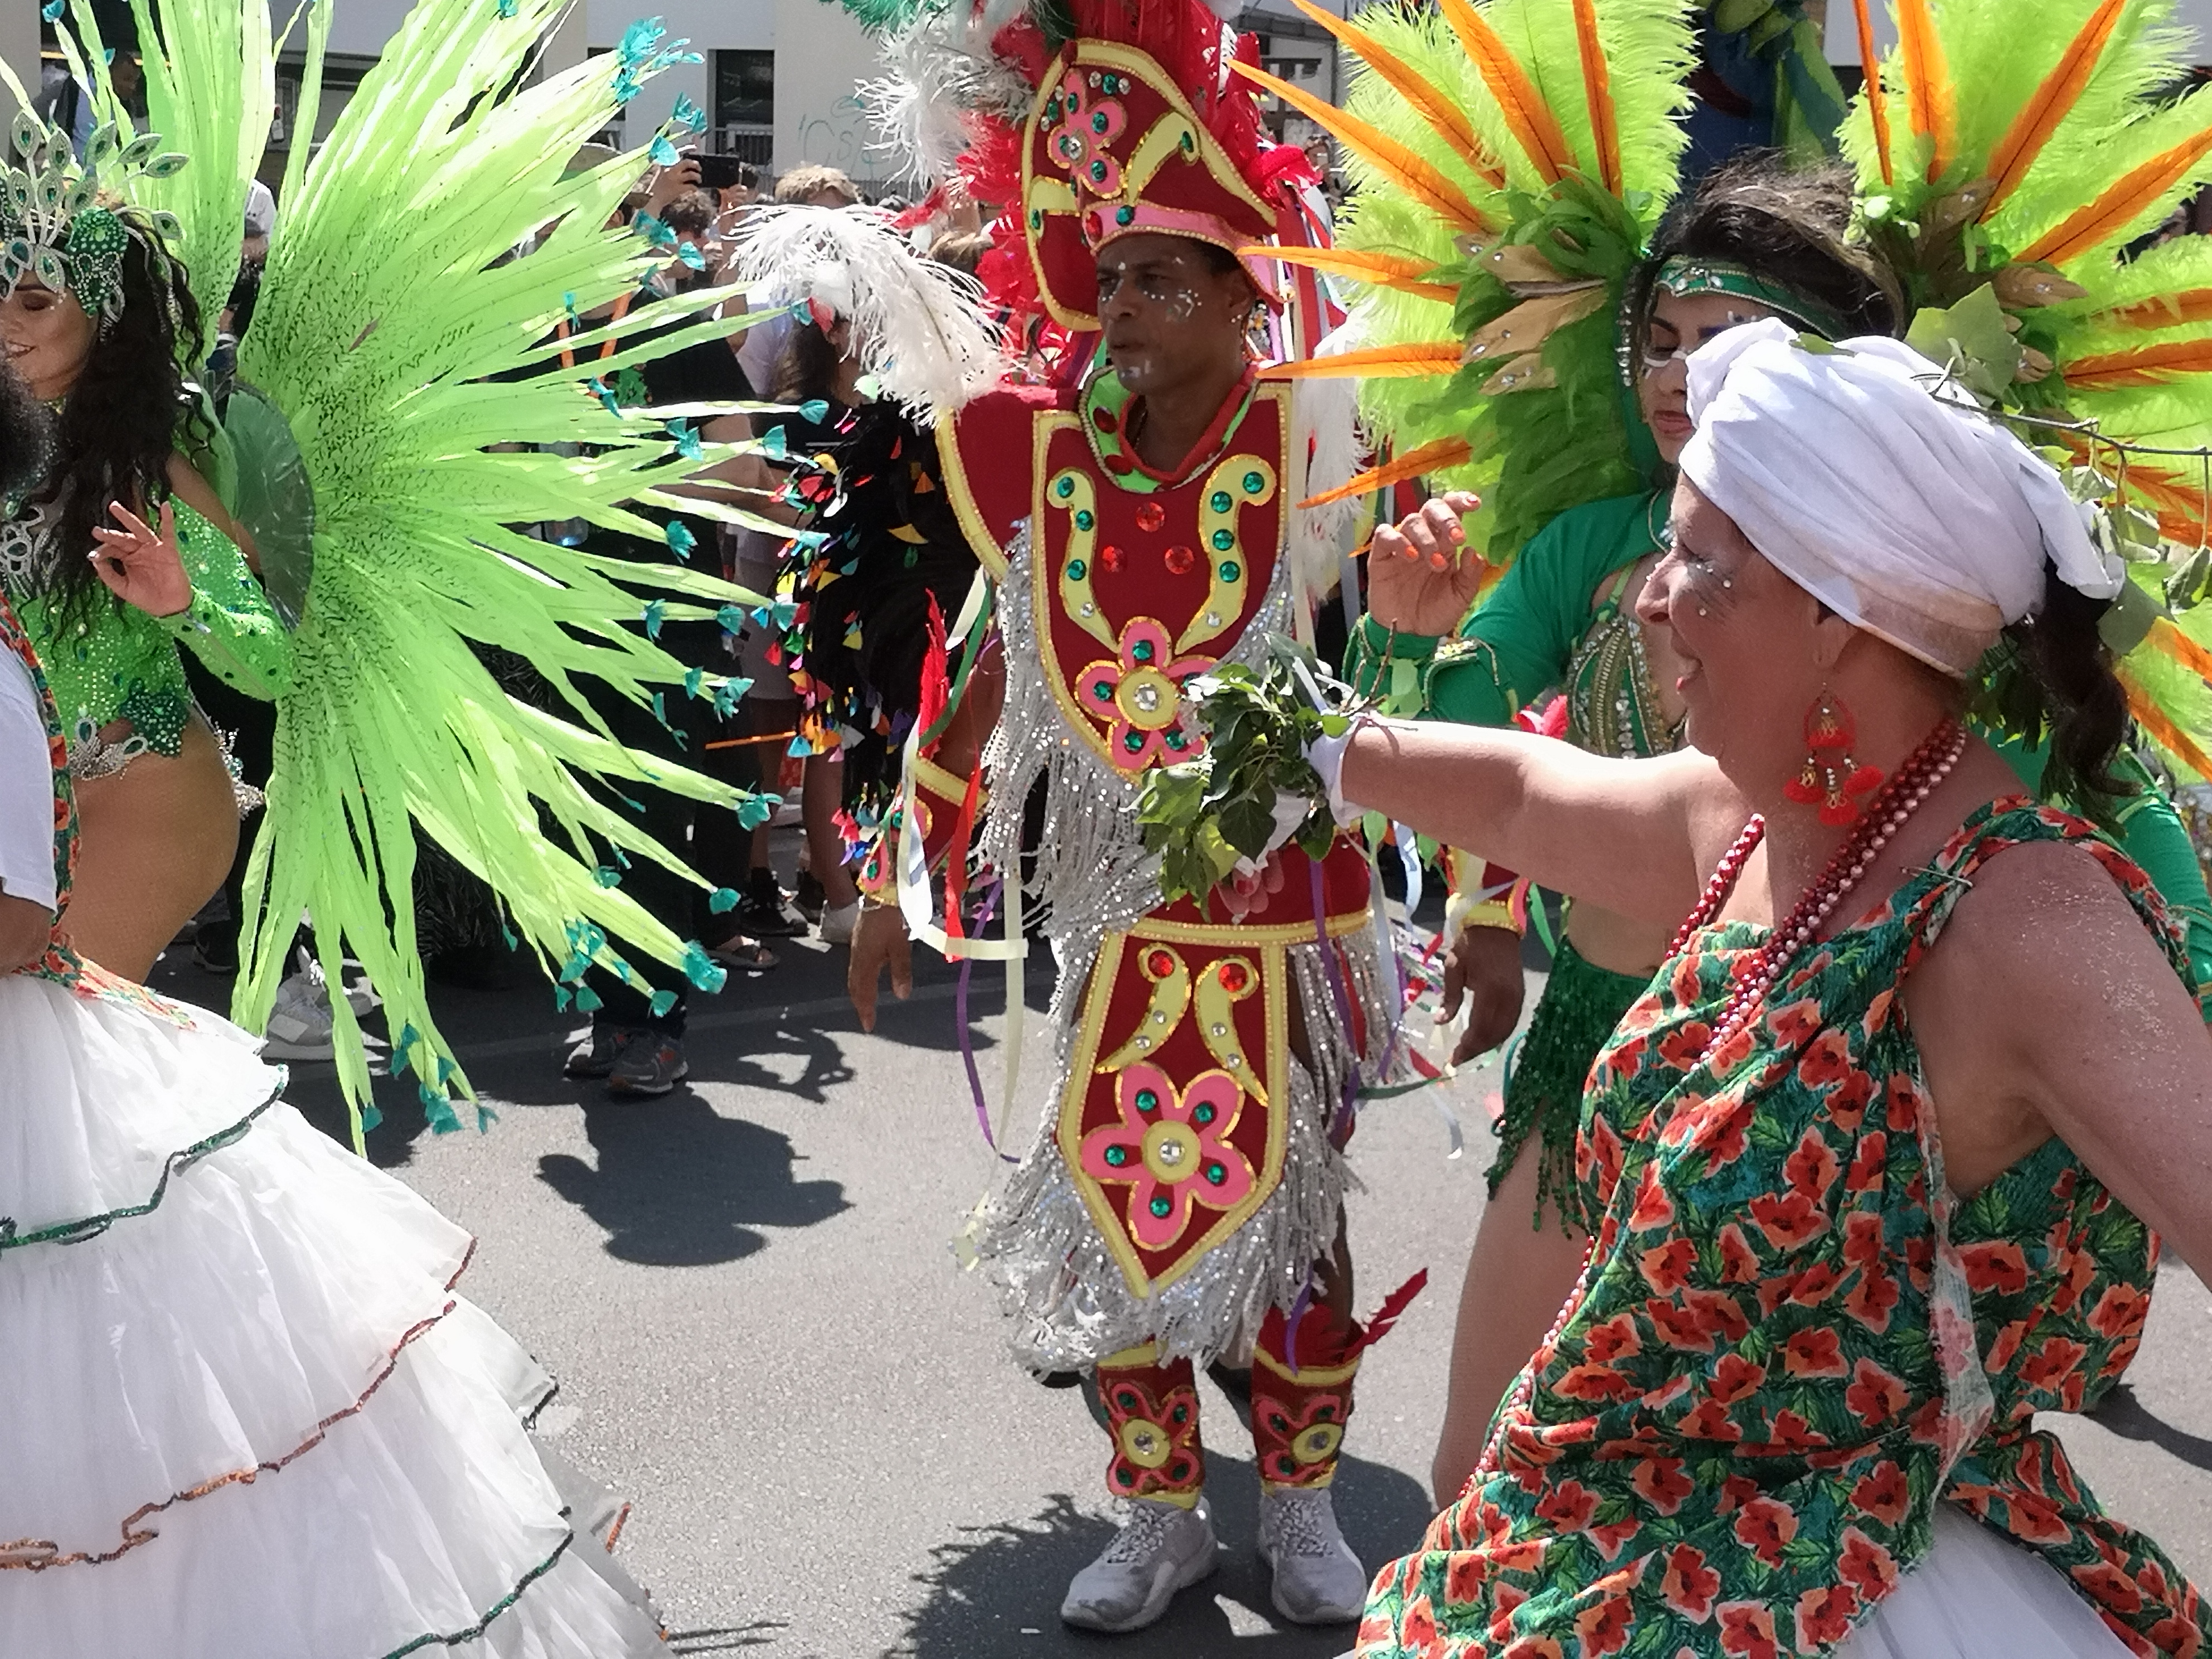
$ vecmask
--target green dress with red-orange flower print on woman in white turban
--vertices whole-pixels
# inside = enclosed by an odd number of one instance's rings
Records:
[[[2028,841],[2093,852],[2188,975],[2141,869],[2026,796],[1975,812],[1712,1053],[1765,929],[1699,929],[1590,1073],[1593,1256],[1498,1473],[1376,1577],[1360,1659],[1827,1655],[1927,1555],[1938,1495],[2039,1551],[2135,1652],[2212,1637],[2031,1425],[2128,1367],[2157,1241],[2057,1139],[1951,1199],[1898,995],[1975,869]]]

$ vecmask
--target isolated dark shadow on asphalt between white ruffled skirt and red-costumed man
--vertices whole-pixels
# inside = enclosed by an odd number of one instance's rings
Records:
[[[606,1228],[606,1254],[703,1267],[768,1245],[757,1228],[812,1228],[852,1208],[836,1181],[796,1179],[792,1141],[699,1095],[584,1108],[597,1168],[553,1152],[538,1179]]]

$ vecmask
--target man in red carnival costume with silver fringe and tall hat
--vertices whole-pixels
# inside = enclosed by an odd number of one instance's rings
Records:
[[[962,170],[971,197],[1006,204],[984,281],[1064,383],[987,392],[938,427],[995,630],[978,595],[947,706],[925,697],[898,823],[863,880],[854,1000],[872,1024],[885,964],[905,993],[909,925],[933,933],[931,869],[953,872],[958,940],[971,838],[982,872],[1015,880],[1042,783],[1029,889],[1062,964],[1055,1084],[971,1239],[1015,1356],[1095,1385],[1106,1484],[1128,1500],[1062,1617],[1135,1630],[1212,1573],[1192,1367],[1225,1358],[1252,1367],[1274,1606],[1354,1619],[1367,1575],[1329,1482],[1387,1316],[1349,1312],[1343,1141],[1394,1044],[1367,865],[1347,843],[1321,863],[1285,847],[1232,920],[1219,896],[1161,902],[1133,812],[1150,768],[1203,745],[1188,681],[1305,633],[1316,584],[1298,571],[1334,577],[1325,526],[1294,507],[1327,445],[1256,352],[1301,334],[1298,294],[1248,252],[1307,239],[1312,170],[1263,139],[1239,42],[1197,0],[1086,0],[1066,38],[951,22],[984,73],[1018,71],[1029,93],[1026,117],[971,117]],[[931,62],[953,49],[927,44]]]

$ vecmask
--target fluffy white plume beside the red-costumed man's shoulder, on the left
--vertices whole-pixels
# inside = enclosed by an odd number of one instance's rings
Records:
[[[852,323],[860,372],[916,420],[936,420],[1000,376],[982,288],[922,259],[876,208],[754,208],[734,276],[754,310],[814,301]]]

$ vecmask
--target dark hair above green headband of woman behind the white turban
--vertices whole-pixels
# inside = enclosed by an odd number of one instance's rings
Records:
[[[1776,150],[1743,150],[1677,201],[1650,257],[1628,279],[1621,338],[1639,343],[1668,259],[1725,259],[1843,316],[1849,334],[1898,334],[1905,292],[1889,265],[1856,246],[1851,170],[1801,168]],[[1630,356],[1630,361],[1635,361]]]

